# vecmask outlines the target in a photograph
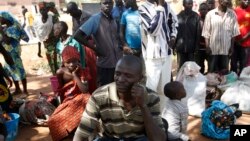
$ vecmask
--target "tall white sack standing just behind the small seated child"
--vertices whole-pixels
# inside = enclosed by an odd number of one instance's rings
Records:
[[[176,81],[183,84],[186,97],[182,99],[188,105],[188,113],[201,117],[205,110],[207,79],[200,73],[200,67],[192,61],[185,62],[176,76]]]

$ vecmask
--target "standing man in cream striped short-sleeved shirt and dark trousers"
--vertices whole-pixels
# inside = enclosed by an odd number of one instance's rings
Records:
[[[218,7],[205,18],[202,36],[210,52],[208,72],[228,70],[228,55],[232,55],[234,38],[240,34],[237,17],[228,4],[229,0],[219,0]]]

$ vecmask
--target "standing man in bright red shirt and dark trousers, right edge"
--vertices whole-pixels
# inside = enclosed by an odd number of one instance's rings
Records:
[[[231,70],[237,74],[240,74],[244,67],[250,65],[250,1],[240,0],[240,2],[240,6],[234,10],[240,27],[240,35],[236,37],[231,57]]]

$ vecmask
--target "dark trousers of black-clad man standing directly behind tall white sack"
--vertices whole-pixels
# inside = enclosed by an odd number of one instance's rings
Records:
[[[178,70],[186,61],[194,61],[194,53],[177,53],[177,63],[179,64]]]

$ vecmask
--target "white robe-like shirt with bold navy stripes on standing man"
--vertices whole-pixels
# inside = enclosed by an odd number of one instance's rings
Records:
[[[166,58],[171,54],[170,36],[177,36],[178,21],[169,4],[155,6],[146,1],[139,7],[144,59]]]

